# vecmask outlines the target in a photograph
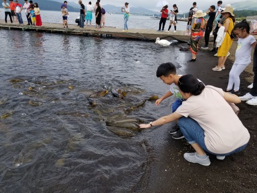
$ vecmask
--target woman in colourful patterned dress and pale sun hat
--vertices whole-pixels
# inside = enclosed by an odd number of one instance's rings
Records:
[[[202,10],[198,10],[195,15],[193,15],[195,19],[194,23],[192,24],[192,32],[191,32],[191,45],[190,51],[192,53],[192,58],[189,62],[195,62],[197,59],[197,52],[198,52],[198,44],[204,35],[204,30],[206,28],[206,20],[203,18],[206,16],[206,13],[203,13]]]

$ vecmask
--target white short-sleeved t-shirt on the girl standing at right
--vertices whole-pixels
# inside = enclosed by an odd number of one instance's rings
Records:
[[[248,65],[251,63],[251,44],[256,40],[252,35],[237,40],[235,63]]]

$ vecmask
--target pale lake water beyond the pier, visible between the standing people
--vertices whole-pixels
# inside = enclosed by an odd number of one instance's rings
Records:
[[[5,19],[5,13],[4,9],[0,9],[0,19]],[[56,11],[45,11],[42,10],[41,12],[41,19],[42,22],[47,23],[61,23],[62,24],[62,16],[61,12]],[[75,19],[79,17],[79,12],[70,12],[69,13],[69,19],[68,23],[70,24],[76,24]],[[22,18],[24,24],[27,24],[27,19],[25,12],[22,12]],[[123,28],[123,15],[119,14],[105,14],[105,25],[108,27],[117,27],[117,28]],[[8,19],[9,20],[9,19]],[[158,29],[159,28],[159,21],[156,19],[151,19],[150,16],[135,16],[131,15],[127,25],[129,28],[136,28],[136,29]],[[92,24],[95,25],[95,17],[93,16]],[[187,22],[178,21],[177,23],[177,30],[186,30],[186,24]],[[169,20],[167,20],[165,24],[165,30],[169,27]],[[174,30],[174,27],[171,27],[172,30]]]

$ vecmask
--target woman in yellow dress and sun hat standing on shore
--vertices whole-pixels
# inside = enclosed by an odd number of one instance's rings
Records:
[[[233,39],[230,37],[230,34],[232,33],[232,30],[234,28],[234,22],[235,22],[235,15],[233,14],[233,8],[227,7],[223,12],[221,12],[222,16],[225,17],[224,22],[224,32],[226,32],[226,35],[224,37],[224,40],[221,44],[221,46],[218,49],[217,56],[219,57],[218,66],[213,68],[214,71],[221,71],[225,69],[225,61],[227,60],[227,54],[228,51],[232,45]],[[219,27],[221,27],[221,24],[218,24]]]

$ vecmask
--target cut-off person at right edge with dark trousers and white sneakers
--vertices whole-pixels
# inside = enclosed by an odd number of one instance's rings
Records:
[[[247,101],[247,105],[257,105],[257,45],[255,45],[253,53],[252,71],[254,73],[253,83],[247,86],[250,88],[250,92],[246,93],[244,96],[239,96],[241,101]]]

